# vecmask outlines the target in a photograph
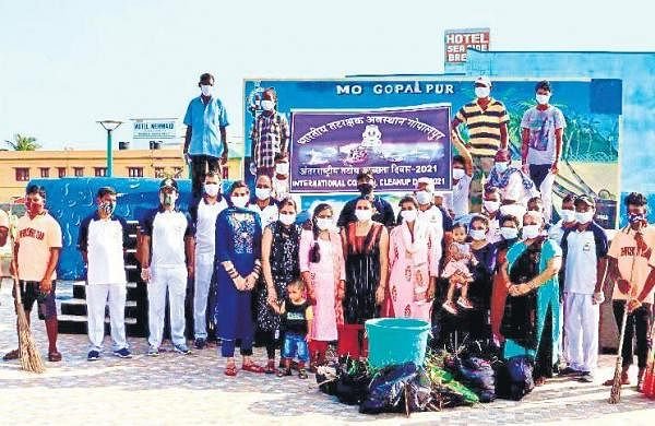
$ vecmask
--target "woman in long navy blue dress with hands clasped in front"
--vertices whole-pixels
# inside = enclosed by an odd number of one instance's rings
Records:
[[[252,289],[261,274],[262,226],[259,214],[246,209],[250,198],[248,186],[233,184],[230,206],[216,218],[214,277],[216,336],[222,340],[221,355],[227,358],[225,375],[236,376],[235,343],[241,341],[242,369],[263,372],[251,359],[254,327]]]

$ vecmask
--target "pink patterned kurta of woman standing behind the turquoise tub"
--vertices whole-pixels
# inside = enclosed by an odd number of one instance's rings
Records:
[[[415,242],[407,224],[393,228],[389,236],[389,294],[396,318],[430,322],[432,301],[426,299],[431,276],[439,276],[441,241],[425,221],[416,221]]]

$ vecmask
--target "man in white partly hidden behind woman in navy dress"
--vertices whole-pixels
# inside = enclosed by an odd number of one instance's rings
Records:
[[[221,176],[210,171],[204,180],[204,196],[191,210],[195,224],[195,281],[193,288],[193,334],[196,350],[205,347],[207,342],[207,299],[214,271],[214,248],[216,246],[216,217],[227,201],[221,193]],[[210,312],[213,312],[210,306]]]

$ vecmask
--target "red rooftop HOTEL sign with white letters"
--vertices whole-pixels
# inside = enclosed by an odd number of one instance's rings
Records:
[[[445,72],[464,70],[466,49],[489,50],[489,28],[446,29],[443,35]]]

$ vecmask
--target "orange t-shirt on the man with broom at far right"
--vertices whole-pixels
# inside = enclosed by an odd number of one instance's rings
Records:
[[[646,244],[645,250],[636,247],[634,230],[629,227],[615,235],[607,252],[607,256],[617,259],[621,277],[636,287],[636,296],[641,294],[651,269],[655,268],[655,227],[648,225],[642,230],[642,234]],[[630,280],[631,277],[632,280]],[[653,293],[655,292],[651,291],[644,301],[652,304]],[[615,300],[628,299],[628,295],[621,293],[617,284],[615,284],[611,297]]]

